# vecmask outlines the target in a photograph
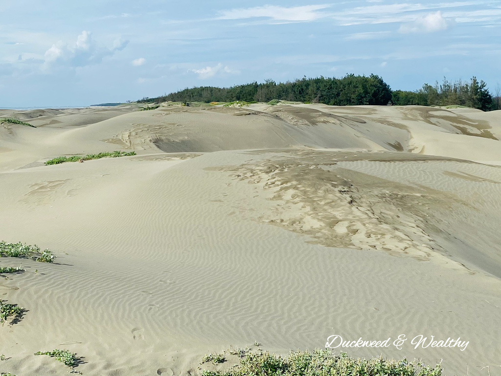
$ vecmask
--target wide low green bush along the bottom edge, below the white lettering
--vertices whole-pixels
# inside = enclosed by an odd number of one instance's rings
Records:
[[[226,371],[204,370],[203,376],[440,376],[440,364],[430,368],[418,361],[352,358],[327,350],[292,352],[283,358],[269,352],[248,353]]]

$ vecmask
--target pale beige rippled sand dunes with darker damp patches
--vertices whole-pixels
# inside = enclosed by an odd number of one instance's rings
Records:
[[[210,352],[353,356],[501,374],[501,112],[251,105],[0,111],[0,241],[37,244],[1,298],[0,372],[195,375]],[[60,155],[136,156],[44,165]],[[19,266],[0,259],[0,266]],[[35,271],[38,270],[36,273]],[[469,341],[414,348],[423,334]],[[338,348],[341,350],[341,348]],[[490,368],[483,368],[489,365]]]

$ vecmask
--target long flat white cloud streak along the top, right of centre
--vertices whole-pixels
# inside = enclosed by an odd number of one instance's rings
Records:
[[[256,17],[265,17],[277,21],[315,21],[324,14],[320,11],[329,8],[328,5],[307,5],[302,7],[278,7],[266,5],[264,7],[247,8],[247,9],[232,9],[222,11],[219,19],[221,20],[238,20]]]

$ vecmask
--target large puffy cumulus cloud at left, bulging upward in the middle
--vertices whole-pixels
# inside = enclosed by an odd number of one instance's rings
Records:
[[[128,41],[116,40],[113,48],[109,49],[99,46],[92,39],[90,32],[83,31],[73,46],[63,42],[52,45],[44,54],[43,69],[47,70],[55,65],[77,68],[99,64],[105,57],[123,50],[128,43]]]

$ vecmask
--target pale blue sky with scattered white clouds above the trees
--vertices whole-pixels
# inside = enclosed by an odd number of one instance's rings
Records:
[[[501,1],[2,0],[0,108],[377,74],[501,84]]]

